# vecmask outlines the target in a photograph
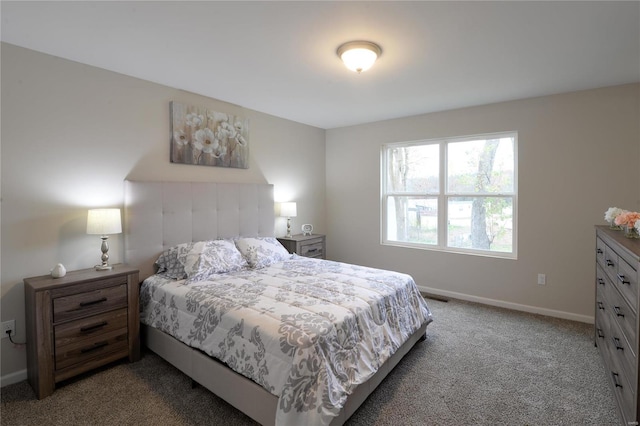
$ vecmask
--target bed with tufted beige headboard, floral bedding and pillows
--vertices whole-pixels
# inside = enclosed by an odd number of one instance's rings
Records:
[[[274,222],[272,185],[126,181],[143,343],[261,424],[343,424],[431,314],[408,275],[262,250]],[[247,265],[211,274],[203,253],[232,246]],[[156,274],[176,247],[189,273]]]

